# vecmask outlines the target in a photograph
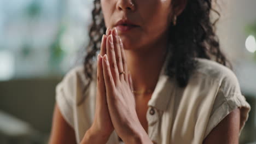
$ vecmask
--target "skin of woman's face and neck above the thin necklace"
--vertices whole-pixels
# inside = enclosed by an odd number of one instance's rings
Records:
[[[181,7],[177,7],[176,11],[172,11],[170,0],[133,1],[134,8],[129,7],[127,0],[101,1],[107,27],[114,28],[115,23],[123,17],[127,17],[139,25],[138,28],[134,28],[130,32],[118,31],[124,44],[125,54],[129,57],[127,65],[131,71],[135,90],[145,91],[156,85],[165,58],[168,26],[172,20],[172,15],[181,13],[185,5],[184,1],[178,2],[183,2],[183,4]]]

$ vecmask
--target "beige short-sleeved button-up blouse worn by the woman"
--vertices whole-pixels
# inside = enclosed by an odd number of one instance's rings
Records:
[[[196,58],[199,67],[185,88],[165,74],[167,55],[158,83],[148,101],[148,135],[154,143],[202,143],[203,139],[232,110],[240,107],[240,133],[251,110],[241,94],[235,74],[228,68],[208,59]],[[95,64],[96,68],[96,64]],[[75,131],[77,143],[82,141],[94,119],[96,72],[82,105],[86,77],[83,66],[70,70],[56,86],[56,103],[63,117]],[[113,131],[108,144],[122,143]]]

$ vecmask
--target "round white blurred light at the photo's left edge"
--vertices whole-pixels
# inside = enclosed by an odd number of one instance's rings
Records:
[[[0,80],[14,76],[14,56],[8,51],[0,51]]]

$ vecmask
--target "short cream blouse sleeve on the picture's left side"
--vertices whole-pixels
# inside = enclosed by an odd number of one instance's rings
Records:
[[[74,128],[74,109],[78,68],[71,69],[56,86],[56,103],[66,122]]]

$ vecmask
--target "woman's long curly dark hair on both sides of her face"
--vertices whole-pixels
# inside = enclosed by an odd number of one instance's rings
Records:
[[[215,21],[211,21],[211,11],[218,15]],[[188,0],[181,15],[177,17],[176,25],[170,25],[168,38],[174,49],[170,48],[172,57],[167,64],[166,73],[170,77],[175,76],[179,87],[187,86],[197,64],[195,57],[211,59],[232,69],[231,63],[220,50],[215,33],[219,17],[218,11],[212,8],[212,0]],[[90,43],[84,59],[84,74],[88,79],[84,91],[92,81],[93,59],[97,51],[100,51],[101,37],[106,32],[100,0],[94,1],[92,20]],[[80,102],[82,101],[83,99]]]

